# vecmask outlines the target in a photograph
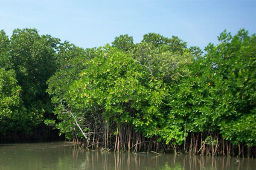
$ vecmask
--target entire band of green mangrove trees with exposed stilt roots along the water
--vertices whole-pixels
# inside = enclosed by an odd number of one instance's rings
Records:
[[[44,122],[89,148],[256,155],[255,34],[224,31],[203,54],[155,33],[87,49],[35,29],[0,33],[3,136]]]

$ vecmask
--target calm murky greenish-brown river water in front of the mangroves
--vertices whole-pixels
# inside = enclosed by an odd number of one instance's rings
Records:
[[[0,144],[0,170],[256,170],[256,159],[107,153],[68,142]]]

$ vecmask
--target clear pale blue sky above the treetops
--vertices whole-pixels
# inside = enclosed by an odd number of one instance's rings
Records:
[[[255,34],[256,0],[0,0],[0,29],[26,27],[83,48],[155,32],[204,49],[224,29]]]

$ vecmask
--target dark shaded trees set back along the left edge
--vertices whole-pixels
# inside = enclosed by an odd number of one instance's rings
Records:
[[[36,29],[15,29],[10,38],[0,31],[0,141],[58,137],[43,122],[56,117],[46,81],[59,70],[66,46]]]

